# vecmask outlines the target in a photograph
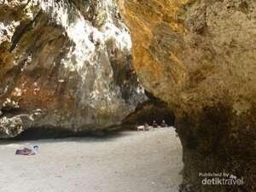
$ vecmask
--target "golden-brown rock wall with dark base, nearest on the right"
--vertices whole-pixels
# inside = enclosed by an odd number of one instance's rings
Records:
[[[119,0],[119,8],[139,79],[175,112],[184,183],[255,191],[256,2]],[[199,172],[230,172],[245,184],[203,186]]]

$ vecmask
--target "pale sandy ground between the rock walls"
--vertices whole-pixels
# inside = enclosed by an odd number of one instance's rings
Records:
[[[33,144],[39,154],[15,155]],[[177,192],[182,179],[172,128],[1,143],[0,158],[0,192]]]

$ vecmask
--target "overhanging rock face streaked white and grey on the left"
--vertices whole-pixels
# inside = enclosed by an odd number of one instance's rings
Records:
[[[146,99],[115,1],[0,1],[0,137],[105,129]]]

